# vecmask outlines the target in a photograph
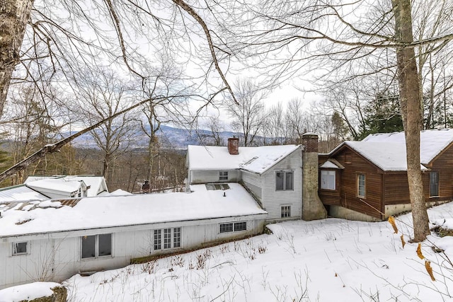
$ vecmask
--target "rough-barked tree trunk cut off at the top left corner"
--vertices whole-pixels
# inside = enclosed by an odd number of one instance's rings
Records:
[[[0,116],[32,6],[33,0],[0,1]]]

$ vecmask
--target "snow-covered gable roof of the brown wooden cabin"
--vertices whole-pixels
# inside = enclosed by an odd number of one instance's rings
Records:
[[[453,143],[453,129],[423,130],[420,132],[420,169],[429,165],[443,150]],[[406,171],[406,138],[404,132],[369,134],[362,141],[344,141],[333,149],[338,152],[348,146],[384,171]]]

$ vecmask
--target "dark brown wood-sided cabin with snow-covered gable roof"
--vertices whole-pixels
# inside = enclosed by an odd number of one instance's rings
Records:
[[[383,220],[411,209],[403,135],[379,135],[346,141],[319,155],[319,197],[331,216]],[[452,146],[453,129],[421,132],[420,169],[428,205],[453,199]]]

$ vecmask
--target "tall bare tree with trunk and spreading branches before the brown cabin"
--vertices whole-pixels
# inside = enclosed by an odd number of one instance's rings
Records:
[[[390,75],[391,68],[396,66],[406,125],[414,238],[420,241],[425,239],[428,220],[420,173],[421,90],[414,47],[431,45],[432,49],[437,49],[452,40],[453,27],[444,27],[439,35],[423,35],[414,40],[411,8],[409,0],[346,4],[335,0],[281,1],[279,4],[265,1],[259,6],[243,7],[243,11],[256,12],[253,21],[248,23],[250,27],[230,28],[230,32],[236,33],[243,45],[241,50],[254,57],[251,64],[262,62],[260,73],[273,76],[268,83],[285,80],[306,66],[318,72],[314,74],[314,81],[321,85],[328,79],[340,77],[348,81],[365,74],[388,71]],[[251,33],[252,27],[260,30]],[[286,59],[282,59],[282,52],[287,54]]]

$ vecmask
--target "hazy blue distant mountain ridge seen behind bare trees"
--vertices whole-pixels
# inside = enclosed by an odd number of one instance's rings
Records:
[[[149,126],[147,127],[147,130],[149,130]],[[68,132],[66,135],[69,136],[71,133]],[[236,132],[231,131],[219,132],[219,136],[222,140],[221,145],[226,146],[228,138],[237,135]],[[214,144],[212,132],[205,129],[189,130],[161,125],[161,128],[157,132],[157,136],[159,137],[159,143],[164,148],[187,149],[188,145]],[[148,146],[148,140],[147,134],[144,134],[142,129],[137,129],[137,131],[134,132],[134,138],[132,139],[130,147],[145,148]],[[91,133],[83,134],[74,139],[73,144],[82,149],[98,149]]]

